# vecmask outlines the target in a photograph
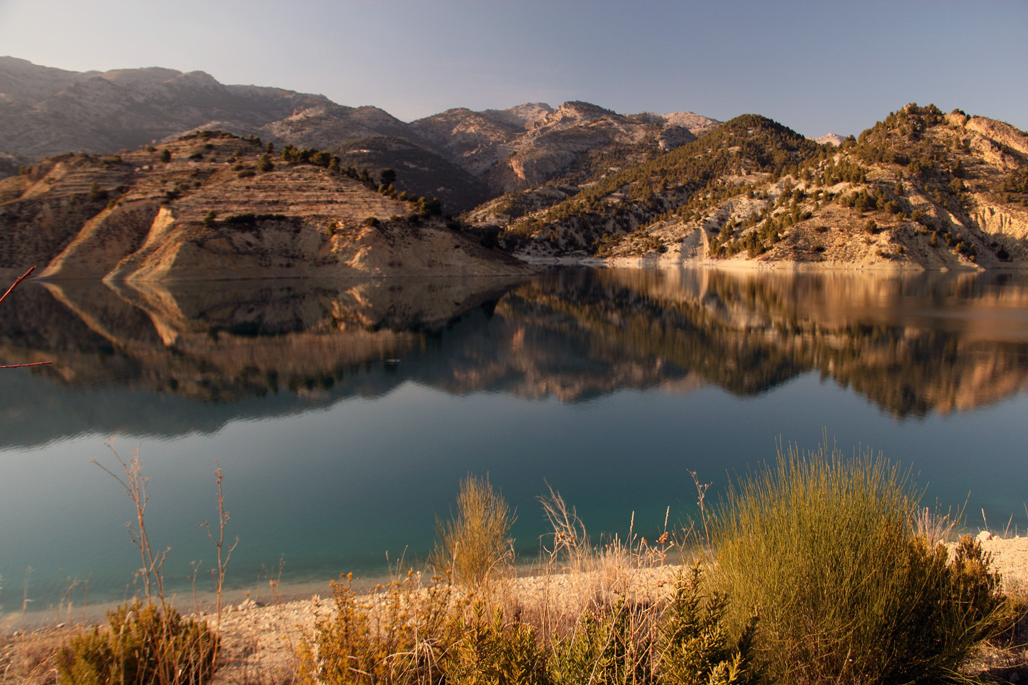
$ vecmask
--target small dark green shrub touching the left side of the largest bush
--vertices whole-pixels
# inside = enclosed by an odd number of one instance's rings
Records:
[[[680,573],[674,595],[664,612],[660,631],[660,682],[668,685],[742,685],[755,683],[760,672],[752,663],[757,615],[738,636],[726,621],[728,598],[718,592],[704,595],[702,569]]]

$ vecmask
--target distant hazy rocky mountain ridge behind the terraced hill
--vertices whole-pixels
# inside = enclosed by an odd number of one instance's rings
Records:
[[[440,197],[452,212],[557,177],[582,181],[589,176],[583,169],[597,155],[627,149],[625,154],[638,160],[719,123],[691,112],[619,115],[579,102],[555,110],[544,103],[482,112],[454,109],[407,123],[376,107],[348,107],[280,88],[223,85],[204,72],[154,67],[78,73],[14,58],[0,58],[0,117],[5,122],[0,151],[37,158],[69,151],[110,154],[223,130],[256,135],[279,147],[336,154],[366,150],[367,166],[377,174],[402,161],[392,154],[399,138],[421,150],[424,170],[438,172],[449,183],[410,180],[403,189]],[[359,147],[353,145],[357,141]],[[461,169],[456,174],[454,165]]]

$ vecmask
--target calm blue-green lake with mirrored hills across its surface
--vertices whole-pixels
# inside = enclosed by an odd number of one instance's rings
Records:
[[[171,588],[373,577],[488,475],[536,556],[547,484],[592,538],[659,534],[776,446],[881,452],[967,526],[1028,525],[1028,278],[562,269],[533,277],[28,282],[3,305],[0,605],[134,592],[138,449]],[[709,500],[708,500],[709,501]],[[192,566],[191,566],[192,564]],[[31,568],[31,571],[29,569]],[[76,584],[75,581],[79,582]],[[87,585],[86,585],[87,580]],[[309,583],[302,585],[302,583]],[[68,587],[72,586],[69,592]]]

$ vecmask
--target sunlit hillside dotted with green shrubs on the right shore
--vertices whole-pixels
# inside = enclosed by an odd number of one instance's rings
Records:
[[[550,203],[536,198],[554,198]],[[1028,264],[1028,136],[908,105],[841,146],[737,117],[570,190],[469,220],[528,258],[618,264],[982,268]],[[561,196],[562,195],[562,196]],[[516,201],[520,199],[520,206]]]

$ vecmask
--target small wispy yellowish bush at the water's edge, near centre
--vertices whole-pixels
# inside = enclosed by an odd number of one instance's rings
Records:
[[[515,517],[489,479],[469,475],[461,482],[456,511],[450,521],[436,521],[436,546],[429,560],[440,572],[476,587],[514,561],[511,526]]]

